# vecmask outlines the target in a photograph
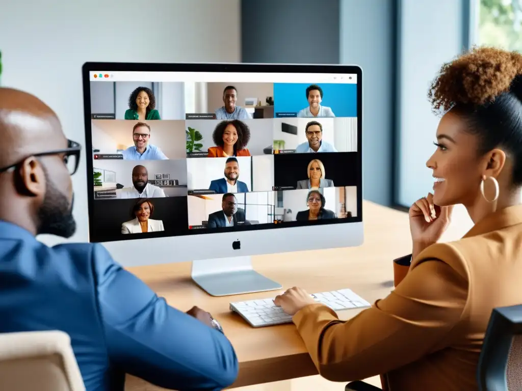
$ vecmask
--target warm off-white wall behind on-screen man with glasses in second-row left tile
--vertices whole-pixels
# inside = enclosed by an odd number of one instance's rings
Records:
[[[149,143],[156,145],[169,159],[184,159],[187,155],[185,121],[144,121],[150,126]],[[133,127],[138,123],[124,119],[91,120],[92,146],[99,153],[116,153],[134,145]]]

